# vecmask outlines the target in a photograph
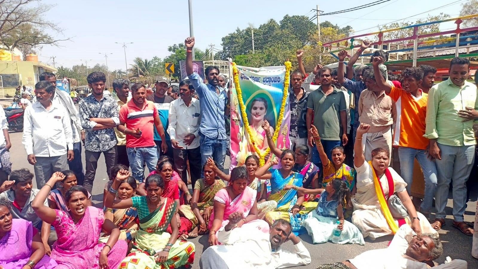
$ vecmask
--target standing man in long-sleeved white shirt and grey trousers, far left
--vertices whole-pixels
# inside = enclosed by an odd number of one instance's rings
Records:
[[[73,135],[65,108],[52,102],[55,87],[42,80],[35,85],[37,102],[25,109],[22,144],[34,166],[37,188],[73,160]]]

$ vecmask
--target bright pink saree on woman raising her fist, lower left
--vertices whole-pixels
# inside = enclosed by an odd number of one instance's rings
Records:
[[[51,258],[58,262],[56,269],[98,269],[99,253],[105,246],[98,244],[101,226],[105,215],[101,209],[88,206],[83,218],[75,224],[68,213],[56,211],[55,227],[58,240],[53,245]],[[109,268],[118,268],[126,257],[128,245],[126,241],[118,240],[108,254]]]

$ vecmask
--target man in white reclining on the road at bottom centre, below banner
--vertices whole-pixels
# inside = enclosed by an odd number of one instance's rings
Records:
[[[199,260],[201,269],[275,269],[310,264],[310,253],[291,232],[290,223],[278,219],[269,228],[265,221],[256,220],[256,225],[240,227],[242,218],[241,212],[229,215],[229,223],[217,233],[223,244],[203,252]],[[294,252],[281,248],[289,240],[294,244]]]

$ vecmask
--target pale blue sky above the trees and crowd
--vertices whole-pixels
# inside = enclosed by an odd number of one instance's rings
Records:
[[[196,47],[205,50],[213,44],[222,49],[221,38],[237,27],[243,29],[252,23],[257,28],[269,19],[279,22],[285,14],[311,17],[315,12],[311,10],[317,4],[319,10],[333,12],[373,1],[341,0],[340,5],[329,5],[330,1],[310,0],[192,0]],[[420,0],[417,5],[417,0],[390,0],[358,11],[321,16],[320,21],[341,27],[351,25],[356,34],[365,34],[377,31],[377,25],[407,17],[410,18],[405,21],[412,22],[440,12],[457,17],[465,1]],[[126,48],[130,68],[137,56],[147,59],[168,56],[169,45],[184,43],[189,36],[188,0],[43,0],[41,3],[54,5],[45,17],[62,28],[56,37],[70,38],[60,42],[60,46],[44,45],[38,52],[39,60],[47,64],[52,64],[51,56],[55,56],[56,67],[72,67],[85,61],[88,67],[106,64],[105,56],[100,53],[107,53],[109,70],[124,70],[124,50],[115,42],[133,43]],[[442,29],[453,27],[453,22],[441,25]]]

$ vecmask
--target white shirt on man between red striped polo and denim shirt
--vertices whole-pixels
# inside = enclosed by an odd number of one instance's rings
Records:
[[[168,134],[171,140],[176,140],[179,146],[185,149],[197,148],[199,146],[199,124],[201,123],[201,107],[199,100],[193,98],[191,104],[186,106],[183,99],[178,98],[169,105],[169,127]],[[194,134],[196,138],[191,145],[186,146],[184,138],[186,134]]]

